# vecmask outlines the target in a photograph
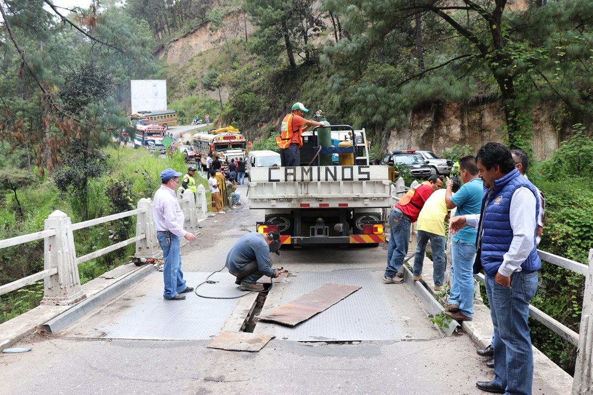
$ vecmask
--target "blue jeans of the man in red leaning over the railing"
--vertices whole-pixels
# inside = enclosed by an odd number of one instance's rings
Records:
[[[392,208],[389,213],[389,248],[387,249],[387,268],[385,277],[395,277],[407,255],[410,244],[412,220],[399,208]]]

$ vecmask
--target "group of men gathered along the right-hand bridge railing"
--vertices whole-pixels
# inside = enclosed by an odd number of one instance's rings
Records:
[[[484,144],[476,157],[459,160],[460,180],[433,175],[398,201],[389,216],[390,240],[383,281],[403,282],[410,224],[417,221],[412,280],[422,279],[426,243],[431,242],[433,281],[440,291],[445,270],[444,221],[452,237],[451,290],[445,316],[473,320],[474,274],[486,274],[492,320],[492,343],[477,353],[493,357],[490,381],[476,386],[490,393],[531,394],[533,351],[529,304],[537,290],[541,261],[537,243],[543,232],[544,196],[525,175],[529,162],[522,150]],[[460,187],[460,181],[463,183]]]

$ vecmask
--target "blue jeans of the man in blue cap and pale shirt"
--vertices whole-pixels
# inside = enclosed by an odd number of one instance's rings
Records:
[[[157,238],[165,261],[162,266],[162,278],[165,282],[165,291],[162,296],[170,299],[187,288],[186,281],[183,280],[183,271],[181,271],[181,237],[171,233],[171,241],[167,243],[167,234],[157,232]]]

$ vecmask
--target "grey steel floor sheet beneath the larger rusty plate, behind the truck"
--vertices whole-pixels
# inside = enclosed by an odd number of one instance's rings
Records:
[[[260,321],[254,332],[270,333],[280,340],[305,342],[423,340],[441,337],[442,333],[429,322],[426,310],[409,287],[384,284],[382,275],[382,272],[361,270],[299,272],[292,275],[286,284],[272,288],[266,304],[282,306],[326,282],[362,288],[295,327]]]

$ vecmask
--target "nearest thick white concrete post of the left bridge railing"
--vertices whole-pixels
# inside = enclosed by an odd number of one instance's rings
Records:
[[[76,264],[72,220],[60,210],[45,220],[44,229],[55,229],[56,235],[44,240],[44,268],[58,268],[58,273],[44,279],[45,294],[41,304],[65,306],[86,298],[80,287]]]

